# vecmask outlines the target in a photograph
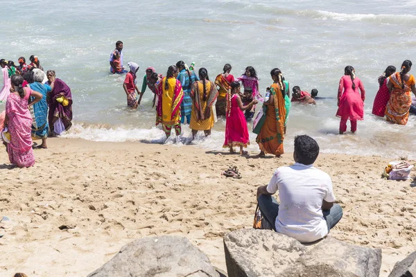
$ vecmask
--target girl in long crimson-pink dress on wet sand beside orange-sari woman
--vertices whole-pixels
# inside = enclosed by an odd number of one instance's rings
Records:
[[[225,123],[225,141],[223,148],[229,148],[229,153],[234,154],[234,146],[240,146],[240,154],[247,154],[243,148],[250,145],[250,137],[248,136],[247,121],[245,120],[243,111],[251,109],[257,104],[256,99],[248,105],[243,105],[240,97],[240,83],[231,83],[231,92],[227,93],[227,109]]]

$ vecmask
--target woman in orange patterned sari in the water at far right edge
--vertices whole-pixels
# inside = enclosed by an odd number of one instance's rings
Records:
[[[390,100],[385,107],[385,117],[395,124],[406,125],[412,105],[412,91],[416,95],[415,77],[408,72],[412,62],[405,60],[401,64],[401,71],[389,77],[387,87],[390,91]]]

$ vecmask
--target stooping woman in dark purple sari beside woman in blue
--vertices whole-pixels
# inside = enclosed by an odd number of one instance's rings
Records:
[[[55,130],[55,125],[63,124],[63,128],[67,131],[72,123],[72,95],[71,89],[64,81],[55,78],[55,71],[49,70],[46,72],[48,78],[47,84],[51,86],[51,92],[48,94],[48,105],[49,105],[49,129],[51,134],[60,134],[60,129]]]

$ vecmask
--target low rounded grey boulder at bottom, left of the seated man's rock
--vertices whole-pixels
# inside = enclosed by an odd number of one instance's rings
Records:
[[[209,259],[187,238],[162,236],[126,244],[87,277],[219,277]]]

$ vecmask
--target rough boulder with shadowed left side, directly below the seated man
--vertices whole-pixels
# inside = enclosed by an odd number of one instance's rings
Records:
[[[272,230],[243,229],[224,237],[228,277],[279,276],[306,247]]]

